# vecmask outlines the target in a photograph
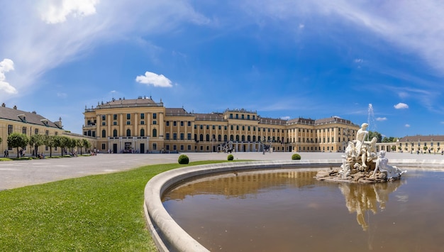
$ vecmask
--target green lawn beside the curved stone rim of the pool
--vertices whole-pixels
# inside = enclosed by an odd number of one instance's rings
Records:
[[[156,251],[143,190],[153,176],[184,166],[149,165],[0,191],[0,251]]]

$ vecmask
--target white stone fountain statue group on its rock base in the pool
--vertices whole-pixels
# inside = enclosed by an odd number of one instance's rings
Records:
[[[317,180],[370,183],[399,180],[406,171],[388,165],[384,150],[377,155],[377,138],[365,141],[369,134],[367,127],[367,123],[362,124],[356,133],[356,140],[348,142],[340,170],[320,171],[316,175]]]

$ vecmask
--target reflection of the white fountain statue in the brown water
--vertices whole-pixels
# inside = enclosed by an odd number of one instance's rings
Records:
[[[357,223],[364,231],[367,231],[365,213],[371,211],[376,214],[377,204],[379,204],[379,209],[384,210],[386,202],[389,201],[389,194],[396,191],[402,183],[404,180],[371,184],[340,183],[339,188],[345,197],[348,211],[356,212]]]

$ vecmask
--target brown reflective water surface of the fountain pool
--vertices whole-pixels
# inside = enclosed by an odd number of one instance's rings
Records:
[[[163,204],[210,251],[443,251],[444,172],[376,184],[314,176],[229,172],[184,182]]]

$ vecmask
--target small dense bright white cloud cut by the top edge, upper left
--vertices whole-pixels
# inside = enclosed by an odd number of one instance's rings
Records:
[[[41,18],[46,23],[63,23],[67,16],[75,18],[96,13],[99,0],[48,0],[40,7]]]

